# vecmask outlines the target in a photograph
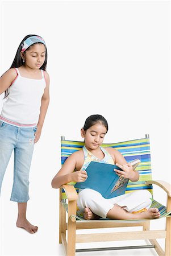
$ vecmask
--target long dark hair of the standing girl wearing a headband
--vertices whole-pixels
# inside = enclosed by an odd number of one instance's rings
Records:
[[[15,57],[14,57],[14,60],[13,60],[12,65],[11,65],[10,68],[19,68],[19,67],[21,67],[21,66],[24,64],[24,63],[23,63],[23,60],[22,60],[22,57],[21,57],[21,55],[20,55],[20,52],[22,51],[23,42],[24,42],[27,38],[30,38],[31,36],[38,36],[38,35],[27,35],[27,36],[25,36],[25,38],[23,38],[22,42],[20,42],[20,44],[19,44],[19,47],[18,47],[18,49],[17,49],[17,51],[16,51],[16,55],[15,55]],[[41,44],[41,43],[36,43],[36,44]],[[32,47],[33,45],[34,45],[34,44],[32,44],[30,47]],[[26,51],[27,51],[28,49],[30,49],[30,47],[28,47],[28,48],[26,49]],[[40,68],[40,69],[43,69],[43,70],[45,70],[45,69],[47,68],[47,59],[48,59],[48,53],[47,53],[47,47],[46,47],[46,46],[45,46],[45,49],[46,49],[46,51],[45,51],[45,60],[44,60],[43,65],[42,65],[41,68]],[[26,52],[26,51],[24,51],[24,52]],[[9,94],[9,88],[7,88],[7,89],[5,90],[5,96],[4,96],[4,98],[6,98],[6,97],[8,96],[8,94]]]

